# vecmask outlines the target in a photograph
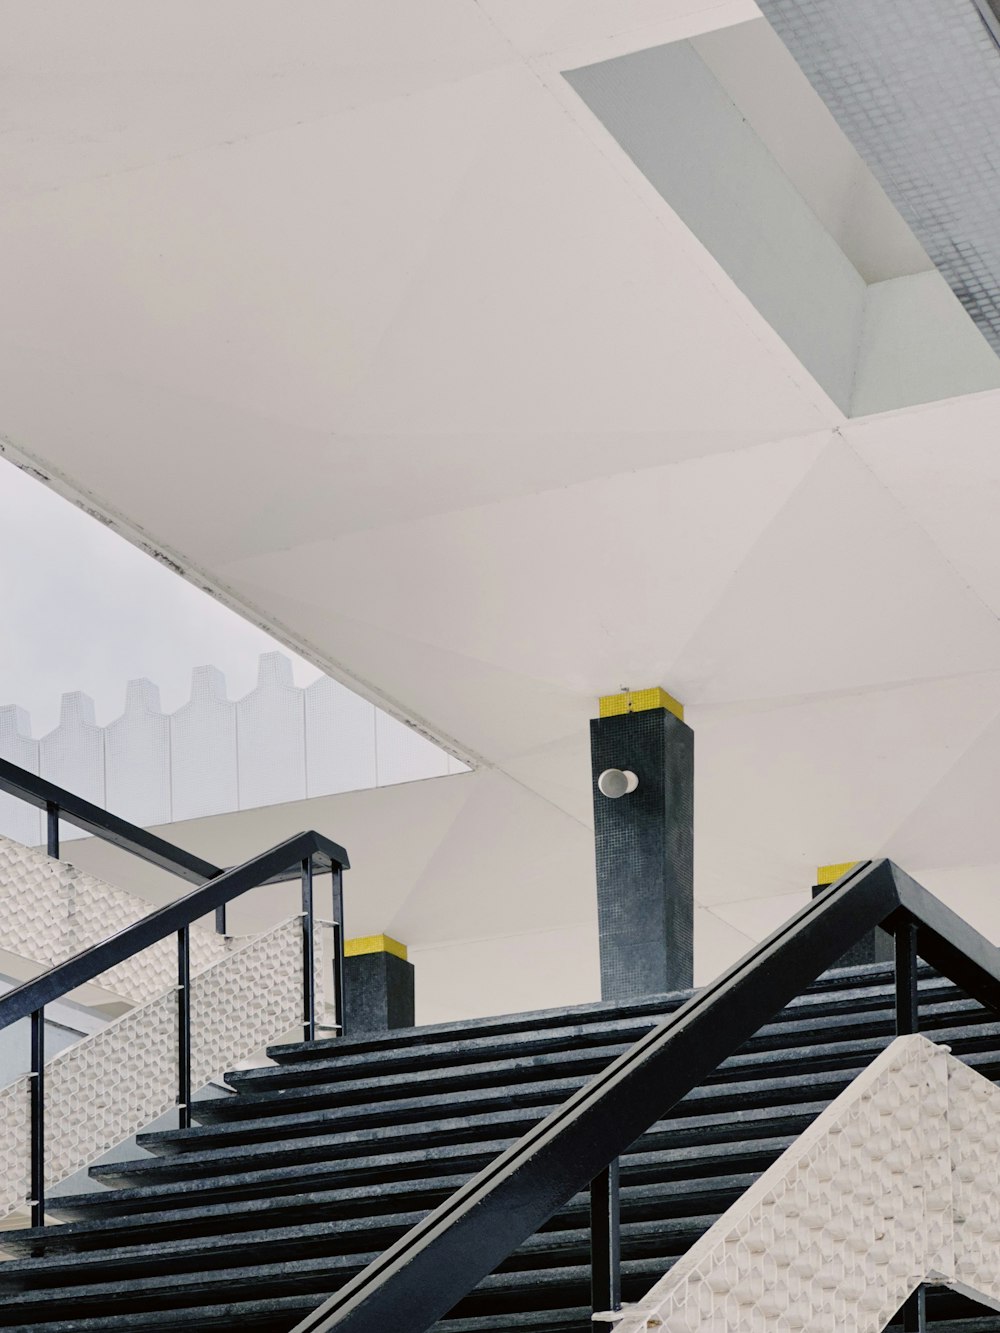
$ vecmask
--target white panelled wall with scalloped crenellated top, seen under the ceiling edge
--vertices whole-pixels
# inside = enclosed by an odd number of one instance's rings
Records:
[[[301,689],[281,653],[261,656],[239,702],[217,668],[196,668],[191,700],[171,716],[148,680],[128,682],[125,712],[107,726],[87,694],[64,694],[41,741],[23,709],[0,708],[0,754],[143,826],[467,770],[325,676]],[[37,845],[44,821],[0,793],[0,833]],[[61,836],[80,834],[64,824]]]

